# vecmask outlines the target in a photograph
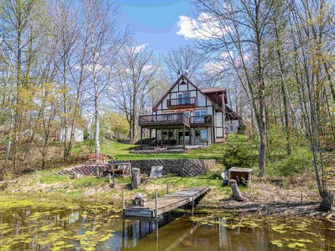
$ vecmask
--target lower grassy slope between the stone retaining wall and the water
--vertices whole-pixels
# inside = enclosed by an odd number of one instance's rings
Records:
[[[108,185],[107,178],[84,176],[73,180],[65,175],[56,175],[55,172],[56,170],[48,170],[25,174],[18,179],[17,183],[2,185],[0,201],[30,199],[75,204],[121,204],[123,189],[126,189],[128,201],[137,192],[142,192],[149,198],[154,197],[155,190],[158,191],[159,195],[164,195],[168,184],[170,192],[182,188],[209,185],[211,196],[207,196],[204,200],[209,203],[214,201],[216,204],[218,199],[230,195],[230,188],[221,185],[222,180],[219,176],[221,165],[217,165],[207,174],[196,177],[165,176],[155,180],[143,177],[142,185],[137,190],[128,190],[130,178],[117,178],[117,188],[112,189]]]

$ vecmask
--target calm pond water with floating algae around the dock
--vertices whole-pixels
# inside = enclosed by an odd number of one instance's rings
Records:
[[[0,201],[0,250],[335,250],[335,227],[320,220],[202,208],[158,222],[123,220],[120,213],[106,205]]]

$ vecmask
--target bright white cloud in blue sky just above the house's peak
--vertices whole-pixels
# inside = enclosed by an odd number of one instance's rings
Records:
[[[220,24],[219,20],[209,13],[201,13],[197,19],[181,15],[177,23],[179,31],[177,35],[185,39],[210,39],[225,36],[229,31],[228,26]]]

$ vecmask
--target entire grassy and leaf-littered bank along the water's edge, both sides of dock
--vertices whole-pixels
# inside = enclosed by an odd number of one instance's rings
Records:
[[[311,217],[329,220],[335,224],[335,213],[320,211],[320,197],[315,189],[312,173],[297,178],[281,179],[280,182],[253,177],[250,188],[241,187],[245,202],[231,198],[231,188],[222,185],[216,175],[218,170],[211,170],[205,175],[194,177],[163,176],[162,178],[142,178],[139,189],[129,190],[130,178],[117,178],[117,188],[111,188],[107,178],[84,176],[70,179],[50,172],[36,172],[22,176],[17,183],[1,186],[0,199],[61,201],[64,204],[110,204],[121,206],[122,190],[126,190],[126,201],[137,193],[153,197],[184,188],[208,185],[211,191],[199,204],[199,207],[220,210],[240,215]],[[334,225],[335,227],[335,225]]]

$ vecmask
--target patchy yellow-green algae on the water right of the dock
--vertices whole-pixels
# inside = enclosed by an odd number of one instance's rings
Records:
[[[269,244],[279,250],[322,250],[325,247],[325,241],[329,247],[335,242],[335,234],[325,236],[327,233],[322,230],[322,226],[328,223],[311,218],[239,217],[239,215],[232,214],[224,215],[222,212],[203,213],[202,211],[199,215],[190,217],[189,220],[200,225],[216,224],[234,233],[238,231],[241,236],[244,233],[249,235],[248,229],[254,229],[253,231],[264,229],[260,230],[260,233],[269,232],[271,236]],[[241,242],[246,242],[244,237],[241,237]],[[246,248],[246,250],[253,249]]]

